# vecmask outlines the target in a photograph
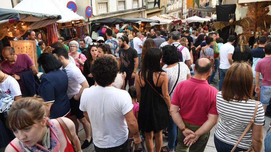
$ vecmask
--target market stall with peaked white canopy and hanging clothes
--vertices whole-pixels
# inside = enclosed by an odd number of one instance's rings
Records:
[[[40,7],[37,7],[40,6]],[[46,33],[47,45],[51,45],[57,41],[59,36],[65,40],[84,38],[87,32],[87,26],[84,24],[84,18],[65,7],[61,1],[56,0],[23,0],[16,5],[14,10],[39,12],[44,14],[60,14],[61,20],[38,29],[38,32]],[[42,39],[43,40],[43,39]],[[44,40],[43,40],[44,41]]]

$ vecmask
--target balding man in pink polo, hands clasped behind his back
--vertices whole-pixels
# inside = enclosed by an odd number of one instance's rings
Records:
[[[206,78],[212,72],[212,63],[207,58],[196,61],[195,76],[180,82],[171,99],[170,113],[179,127],[176,152],[203,152],[210,130],[216,124],[216,88]],[[180,110],[179,110],[180,108]]]

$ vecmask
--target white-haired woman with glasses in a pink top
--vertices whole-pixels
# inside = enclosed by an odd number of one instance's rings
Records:
[[[79,44],[76,41],[71,41],[69,43],[70,51],[69,56],[73,57],[75,60],[75,65],[80,68],[84,65],[84,62],[87,60],[86,56],[82,53],[77,52]]]

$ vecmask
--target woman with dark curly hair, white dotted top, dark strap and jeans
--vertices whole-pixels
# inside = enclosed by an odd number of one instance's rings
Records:
[[[166,64],[163,70],[168,75],[168,93],[170,98],[172,98],[176,85],[181,81],[190,79],[190,70],[184,62],[179,62],[182,56],[174,45],[164,46],[162,52],[162,61]],[[168,115],[168,120],[168,146],[164,146],[162,149],[163,151],[173,152],[175,149],[178,127],[173,122],[171,115]]]

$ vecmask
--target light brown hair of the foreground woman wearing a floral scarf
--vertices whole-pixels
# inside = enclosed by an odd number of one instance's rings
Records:
[[[49,115],[47,104],[39,96],[14,101],[7,116],[6,126],[11,130],[22,130],[35,123],[42,122]]]

